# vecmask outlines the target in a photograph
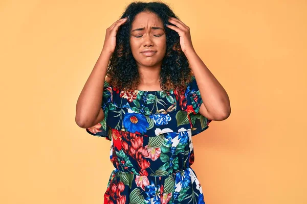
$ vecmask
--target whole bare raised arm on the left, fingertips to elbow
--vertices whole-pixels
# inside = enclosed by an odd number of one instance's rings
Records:
[[[127,19],[121,18],[106,29],[100,56],[77,100],[75,121],[79,127],[92,127],[104,119],[101,103],[107,66],[115,50],[118,28]]]

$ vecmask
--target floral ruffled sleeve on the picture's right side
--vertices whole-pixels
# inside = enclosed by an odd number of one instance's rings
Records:
[[[187,98],[187,111],[191,124],[191,132],[192,136],[194,136],[207,130],[209,123],[212,121],[199,113],[203,99],[194,75],[192,76],[192,81],[187,86],[185,95]]]

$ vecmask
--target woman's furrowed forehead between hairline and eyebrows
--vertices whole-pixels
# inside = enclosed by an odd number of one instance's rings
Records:
[[[147,27],[148,25],[163,25],[157,14],[152,12],[141,12],[137,14],[132,22],[132,27]]]

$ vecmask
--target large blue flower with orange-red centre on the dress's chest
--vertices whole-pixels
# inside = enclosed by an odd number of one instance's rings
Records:
[[[123,119],[123,125],[128,132],[145,133],[146,127],[149,126],[145,116],[140,113],[126,113]]]

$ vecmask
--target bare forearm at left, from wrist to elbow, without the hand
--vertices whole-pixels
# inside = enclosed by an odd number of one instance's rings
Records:
[[[111,55],[111,52],[101,51],[90,77],[78,97],[75,121],[79,127],[91,127],[104,119],[101,103],[106,70]]]

